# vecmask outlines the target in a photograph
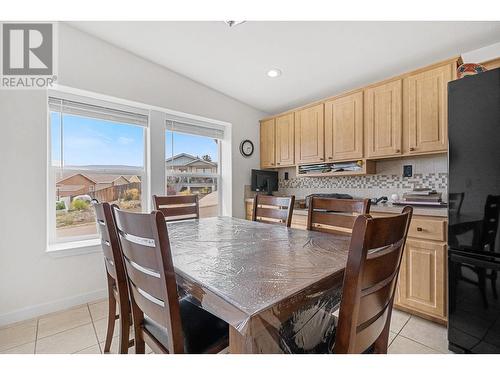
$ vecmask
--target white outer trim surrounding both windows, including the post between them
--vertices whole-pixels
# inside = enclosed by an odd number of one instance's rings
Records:
[[[190,123],[204,125],[208,127],[213,127],[221,129],[224,132],[224,138],[220,139],[219,146],[221,150],[219,151],[220,168],[219,173],[221,177],[219,179],[219,209],[222,209],[222,215],[232,216],[233,208],[233,176],[232,176],[232,156],[233,156],[233,142],[232,142],[232,124],[227,121],[216,120],[213,118],[203,117],[199,115],[194,115],[190,113],[180,112],[172,110],[165,107],[155,106],[146,104],[144,102],[138,102],[134,100],[128,100],[119,98],[116,96],[110,96],[106,94],[97,93],[94,91],[88,91],[83,89],[77,89],[70,86],[64,86],[60,84],[54,84],[53,88],[46,91],[46,103],[47,103],[47,113],[46,113],[46,140],[47,145],[45,158],[46,162],[46,252],[48,255],[54,258],[67,257],[67,256],[77,256],[90,253],[101,253],[102,248],[100,240],[98,238],[90,240],[81,241],[68,241],[61,243],[50,243],[49,233],[50,226],[53,224],[55,228],[55,193],[51,195],[51,186],[55,189],[55,179],[50,177],[50,163],[51,163],[51,139],[50,139],[50,111],[48,109],[48,99],[49,96],[58,97],[62,99],[74,100],[74,101],[84,101],[87,104],[101,105],[106,103],[106,105],[111,108],[118,110],[130,111],[130,109],[137,110],[138,113],[148,116],[148,123],[145,127],[145,165],[146,176],[142,185],[142,195],[145,199],[146,204],[143,206],[142,210],[144,212],[150,212],[152,205],[152,194],[164,194],[166,189],[166,168],[165,168],[165,124],[166,119],[172,118],[182,118],[188,120]],[[51,183],[53,185],[51,185]],[[222,193],[224,192],[224,194]],[[53,199],[50,199],[53,197]],[[51,212],[54,215],[51,216]],[[54,220],[51,222],[50,218],[53,217]]]

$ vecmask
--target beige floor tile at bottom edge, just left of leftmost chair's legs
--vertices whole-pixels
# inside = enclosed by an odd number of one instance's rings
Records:
[[[36,352],[70,354],[96,345],[97,343],[94,326],[86,324],[39,339],[36,343]]]

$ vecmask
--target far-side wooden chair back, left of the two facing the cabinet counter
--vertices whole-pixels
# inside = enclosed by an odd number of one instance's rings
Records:
[[[252,221],[269,224],[292,225],[295,196],[274,197],[257,194],[253,200]]]

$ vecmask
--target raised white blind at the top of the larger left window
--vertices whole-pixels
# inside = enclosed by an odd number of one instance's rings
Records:
[[[55,97],[49,97],[49,109],[53,112],[98,118],[105,121],[113,121],[140,126],[148,125],[148,116],[144,114],[75,102],[67,99],[59,99]]]

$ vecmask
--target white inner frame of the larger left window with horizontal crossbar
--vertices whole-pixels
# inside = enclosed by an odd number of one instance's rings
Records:
[[[66,237],[66,238],[58,238],[57,237],[57,221],[56,221],[56,192],[57,192],[57,180],[56,180],[56,170],[57,167],[54,167],[52,165],[52,124],[51,124],[51,110],[49,107],[49,97],[56,97],[57,99],[61,100],[72,100],[72,101],[78,101],[83,104],[89,104],[89,105],[97,105],[101,107],[107,107],[110,109],[115,109],[115,110],[123,110],[124,108],[127,108],[128,111],[136,111],[139,114],[146,115],[148,117],[147,124],[142,126],[142,125],[137,125],[137,124],[129,124],[128,126],[137,126],[141,127],[143,129],[143,166],[142,168],[135,168],[135,167],[130,167],[130,168],[102,168],[102,169],[93,169],[93,168],[88,168],[88,167],[78,167],[78,166],[72,166],[71,168],[63,168],[65,171],[68,172],[75,172],[81,173],[81,172],[92,172],[94,174],[116,174],[116,175],[137,175],[141,176],[141,208],[148,208],[150,206],[150,198],[149,198],[149,174],[148,174],[148,147],[149,147],[149,142],[148,142],[148,129],[149,129],[149,122],[150,122],[150,116],[149,112],[146,114],[143,109],[141,108],[135,108],[135,107],[124,107],[123,105],[120,105],[119,103],[114,103],[113,101],[104,101],[104,100],[99,100],[96,98],[92,97],[86,97],[86,96],[75,96],[75,95],[68,95],[64,92],[60,91],[54,91],[51,90],[49,92],[49,95],[47,96],[47,175],[48,175],[48,184],[47,184],[47,250],[48,251],[58,251],[58,250],[65,250],[65,249],[78,249],[81,247],[87,247],[87,246],[95,246],[100,243],[99,240],[99,232],[97,231],[97,226],[96,226],[96,234],[92,235],[80,235],[80,236],[72,236],[72,237]],[[63,112],[61,113],[61,116],[63,116]],[[92,118],[92,117],[88,117]],[[106,122],[107,120],[102,120]],[[112,124],[112,121],[107,121],[110,124]],[[117,124],[117,123],[115,123]],[[97,224],[96,224],[97,225]]]

